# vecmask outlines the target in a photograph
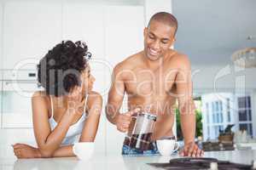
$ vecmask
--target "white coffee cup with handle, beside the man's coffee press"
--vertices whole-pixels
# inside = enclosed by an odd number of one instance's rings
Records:
[[[159,139],[156,140],[156,144],[160,155],[162,156],[171,156],[172,153],[177,151],[179,148],[175,139]]]

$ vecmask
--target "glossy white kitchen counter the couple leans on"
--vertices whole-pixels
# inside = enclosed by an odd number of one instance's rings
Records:
[[[48,159],[1,159],[0,169],[4,170],[75,170],[75,169],[125,169],[125,170],[150,170],[156,169],[146,163],[168,162],[180,156],[93,156],[90,161],[79,161],[76,157],[48,158]],[[256,160],[256,150],[234,150],[206,152],[205,157],[214,157],[223,161],[251,164]]]

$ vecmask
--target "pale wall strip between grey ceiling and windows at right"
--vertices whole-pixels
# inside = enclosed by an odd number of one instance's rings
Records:
[[[254,89],[255,71],[255,68],[242,69],[232,64],[192,65],[192,80],[195,90],[208,89],[216,92],[225,89]]]

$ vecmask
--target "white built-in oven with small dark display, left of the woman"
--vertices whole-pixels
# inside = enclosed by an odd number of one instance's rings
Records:
[[[17,77],[13,71],[3,71],[3,75],[2,128],[32,127],[31,97],[40,90],[35,71],[20,71]]]

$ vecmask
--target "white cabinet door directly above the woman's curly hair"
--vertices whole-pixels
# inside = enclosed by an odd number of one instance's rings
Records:
[[[92,59],[105,59],[103,6],[83,2],[63,3],[63,35],[65,40],[87,43]]]

